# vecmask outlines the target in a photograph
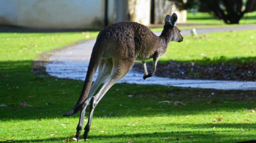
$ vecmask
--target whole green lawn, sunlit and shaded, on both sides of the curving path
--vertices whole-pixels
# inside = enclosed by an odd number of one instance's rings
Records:
[[[255,50],[255,40],[251,38],[254,33],[222,32],[199,35],[198,39],[186,36],[182,43],[172,42],[161,61],[202,61],[202,53],[210,61],[220,55],[226,59],[251,60],[248,57],[256,57],[255,51],[251,52]],[[40,77],[31,72],[31,63],[39,53],[87,39],[87,35],[93,38],[97,32],[0,34],[1,139],[57,143],[74,137],[79,114],[71,117],[62,114],[76,103],[83,81]],[[210,46],[216,40],[220,53]],[[229,45],[231,41],[235,43]],[[179,53],[181,49],[190,51]],[[95,109],[87,142],[233,143],[256,139],[255,94],[255,91],[115,84]]]

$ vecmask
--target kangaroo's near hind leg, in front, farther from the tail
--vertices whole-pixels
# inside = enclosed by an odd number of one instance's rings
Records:
[[[105,95],[105,93],[109,90],[109,88],[128,73],[133,63],[134,61],[132,61],[131,59],[122,60],[122,61],[119,60],[117,62],[114,61],[113,69],[108,80],[106,80],[105,84],[102,86],[99,92],[94,97],[91,98],[89,119],[84,128],[85,131],[83,136],[85,140],[87,139],[88,133],[90,131],[91,120],[93,118],[93,112],[95,107],[97,106],[101,98]]]

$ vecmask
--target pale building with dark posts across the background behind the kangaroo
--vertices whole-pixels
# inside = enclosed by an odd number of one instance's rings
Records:
[[[0,24],[33,28],[102,28],[130,20],[148,26],[178,11],[168,0],[0,0]]]

